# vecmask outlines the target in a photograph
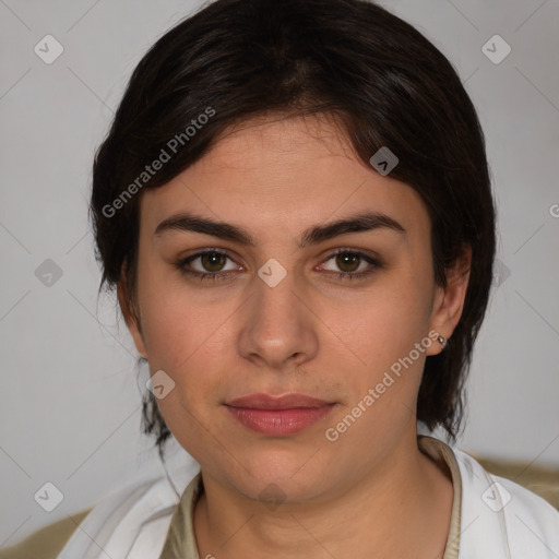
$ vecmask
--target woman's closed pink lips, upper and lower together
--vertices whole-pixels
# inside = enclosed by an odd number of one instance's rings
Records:
[[[250,394],[231,400],[225,406],[245,427],[272,437],[286,437],[325,417],[335,403],[305,394]]]

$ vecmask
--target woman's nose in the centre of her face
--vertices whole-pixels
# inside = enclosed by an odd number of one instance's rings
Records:
[[[239,312],[239,352],[265,368],[284,369],[314,358],[319,348],[318,318],[302,293],[297,293],[294,274],[274,287],[254,278],[252,296]]]

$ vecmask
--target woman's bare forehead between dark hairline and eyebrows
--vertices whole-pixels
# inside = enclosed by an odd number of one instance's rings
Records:
[[[262,235],[371,210],[428,226],[417,192],[379,175],[324,117],[254,119],[237,124],[167,185],[142,195],[142,227],[188,210]],[[413,228],[413,227],[412,227]]]

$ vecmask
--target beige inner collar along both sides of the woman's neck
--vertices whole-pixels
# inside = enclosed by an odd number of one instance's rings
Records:
[[[448,467],[451,473],[454,497],[452,500],[449,536],[442,559],[459,559],[462,478],[456,459],[450,447],[432,437],[419,436],[418,445],[425,454],[437,462],[443,469]],[[185,489],[180,503],[173,514],[159,559],[200,559],[193,521],[194,508],[202,492],[203,484],[199,472]]]

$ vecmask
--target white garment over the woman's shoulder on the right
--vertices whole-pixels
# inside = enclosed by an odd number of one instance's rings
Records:
[[[559,511],[525,487],[452,449],[461,471],[463,557],[559,557]],[[477,554],[477,555],[476,555]]]

